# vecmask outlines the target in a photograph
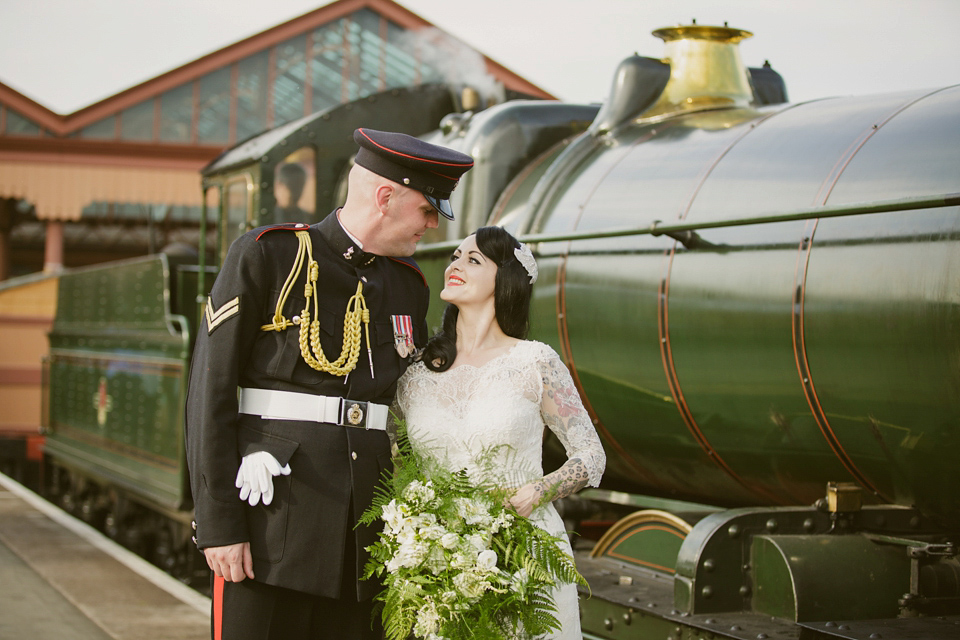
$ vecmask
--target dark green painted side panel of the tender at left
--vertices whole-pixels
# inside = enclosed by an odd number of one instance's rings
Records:
[[[195,298],[181,279],[178,291]],[[61,464],[169,509],[189,504],[183,397],[191,334],[166,256],[60,277],[46,447]]]

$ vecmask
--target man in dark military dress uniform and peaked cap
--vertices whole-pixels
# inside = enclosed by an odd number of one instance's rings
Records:
[[[428,338],[408,256],[453,220],[473,160],[399,133],[354,140],[344,206],[240,237],[198,331],[186,447],[214,640],[382,635],[379,585],[358,579],[376,530],[355,525],[390,464],[396,381]]]

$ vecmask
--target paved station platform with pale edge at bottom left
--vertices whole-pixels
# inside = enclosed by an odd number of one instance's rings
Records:
[[[0,475],[0,640],[207,640],[209,602]]]

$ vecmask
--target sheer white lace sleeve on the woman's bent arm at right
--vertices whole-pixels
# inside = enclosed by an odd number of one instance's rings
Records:
[[[599,486],[607,456],[566,365],[556,351],[543,347],[537,359],[543,381],[540,414],[567,452],[567,462],[544,478],[557,498],[588,485]]]

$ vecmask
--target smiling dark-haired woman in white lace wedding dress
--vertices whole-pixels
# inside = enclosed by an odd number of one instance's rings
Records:
[[[539,527],[563,537],[552,501],[600,483],[603,447],[557,353],[524,340],[537,265],[530,249],[500,227],[468,236],[444,272],[448,302],[441,331],[409,367],[397,389],[397,408],[417,453],[450,469],[466,469],[516,488],[510,505]],[[544,426],[559,438],[567,461],[543,475]],[[494,452],[496,464],[477,466]],[[554,591],[562,631],[581,638],[576,585]]]

